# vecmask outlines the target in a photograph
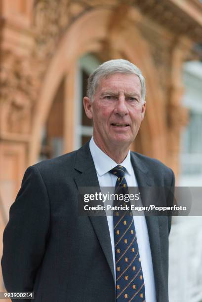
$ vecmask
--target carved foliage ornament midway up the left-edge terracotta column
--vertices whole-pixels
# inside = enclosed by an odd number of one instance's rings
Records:
[[[37,98],[34,68],[29,58],[2,51],[0,66],[1,131],[28,134],[31,113]]]

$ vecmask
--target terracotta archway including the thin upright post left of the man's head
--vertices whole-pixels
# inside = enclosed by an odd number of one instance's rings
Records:
[[[134,11],[135,14],[135,11]],[[40,150],[40,131],[48,116],[54,95],[65,78],[65,152],[73,150],[75,66],[78,58],[93,52],[106,52],[108,59],[125,57],[142,70],[147,82],[147,114],[142,125],[143,152],[165,160],[165,122],[162,117],[162,95],[149,47],[135,27],[133,20],[127,26],[113,27],[110,32],[112,11],[96,9],[86,12],[67,30],[48,66],[40,90],[33,120],[29,145],[29,162],[36,162]],[[125,21],[124,21],[125,22]],[[119,29],[118,29],[119,27]],[[121,29],[121,31],[120,31]],[[131,38],[132,37],[132,38]],[[107,45],[107,46],[106,46]]]

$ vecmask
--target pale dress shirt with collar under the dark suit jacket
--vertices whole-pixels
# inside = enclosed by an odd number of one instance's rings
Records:
[[[115,187],[117,182],[117,176],[109,173],[109,171],[116,167],[118,164],[104,153],[95,144],[93,138],[90,140],[90,152],[95,164],[97,177],[100,187]],[[130,161],[130,151],[126,158],[120,163],[121,166],[125,167],[125,179],[128,187],[137,187],[137,180],[135,178],[134,170]],[[145,283],[145,298],[146,302],[156,302],[156,290],[154,282],[154,271],[152,264],[152,256],[150,250],[149,236],[147,230],[147,224],[144,216],[133,216],[135,231],[137,235],[137,243],[139,247],[139,254],[142,264],[142,272]],[[115,266],[115,244],[114,244],[114,224],[113,216],[107,216],[111,244],[112,254],[114,260],[114,271],[116,276]]]

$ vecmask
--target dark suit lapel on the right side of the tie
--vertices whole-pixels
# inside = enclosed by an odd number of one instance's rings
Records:
[[[131,152],[131,162],[134,169],[135,177],[137,179],[138,187],[152,187],[155,186],[154,179],[149,173],[149,170],[144,165],[144,163],[135,155],[135,153]],[[140,189],[142,196],[142,203],[144,205],[144,200],[147,200],[150,197],[149,190]],[[153,269],[154,269],[154,278],[156,285],[156,295],[159,301],[160,295],[160,272],[161,272],[161,249],[160,249],[160,234],[159,234],[159,218],[158,216],[146,216],[146,223],[150,241],[150,249],[152,255]]]

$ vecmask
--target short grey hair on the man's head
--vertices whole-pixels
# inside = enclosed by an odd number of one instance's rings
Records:
[[[100,79],[106,78],[114,74],[137,75],[140,79],[140,83],[142,87],[142,91],[141,91],[142,101],[145,100],[145,95],[146,95],[145,78],[142,75],[141,70],[133,63],[127,60],[116,59],[116,60],[110,60],[104,62],[89,76],[88,84],[87,84],[87,96],[91,101],[94,100],[95,91],[99,85]]]

